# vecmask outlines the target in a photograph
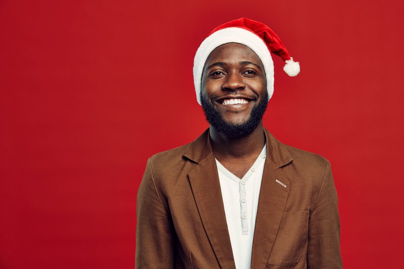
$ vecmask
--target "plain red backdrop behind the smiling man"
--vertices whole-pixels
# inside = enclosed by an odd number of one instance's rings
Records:
[[[207,128],[194,53],[245,16],[301,64],[264,124],[330,160],[345,268],[398,268],[402,3],[0,1],[0,267],[133,268],[146,159]]]

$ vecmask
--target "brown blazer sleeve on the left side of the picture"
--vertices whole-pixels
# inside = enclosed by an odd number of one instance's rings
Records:
[[[174,268],[174,229],[160,195],[150,157],[137,192],[135,268]]]

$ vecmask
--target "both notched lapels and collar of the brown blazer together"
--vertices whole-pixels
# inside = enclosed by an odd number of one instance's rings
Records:
[[[257,209],[256,227],[252,242],[251,268],[265,268],[282,220],[291,180],[281,168],[292,162],[292,157],[266,129],[267,158]],[[183,157],[195,164],[188,180],[208,235],[221,268],[235,268],[230,236],[227,229],[222,192],[215,158],[212,153],[209,129],[193,141]],[[286,187],[277,183],[282,182]]]

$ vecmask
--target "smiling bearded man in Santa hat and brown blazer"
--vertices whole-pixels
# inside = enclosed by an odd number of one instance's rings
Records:
[[[276,34],[246,18],[213,30],[194,61],[210,128],[147,161],[137,194],[137,268],[342,268],[330,164],[263,127]]]

